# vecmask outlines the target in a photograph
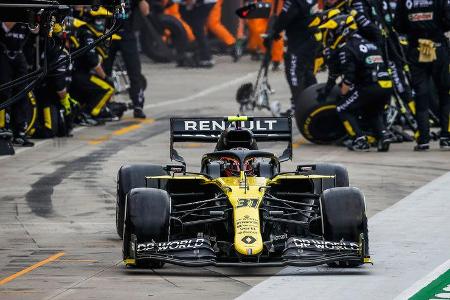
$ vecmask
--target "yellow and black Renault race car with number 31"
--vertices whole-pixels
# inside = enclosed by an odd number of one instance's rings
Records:
[[[290,118],[171,119],[171,159],[118,172],[117,232],[128,266],[330,266],[370,263],[363,194],[344,167],[292,159]],[[188,172],[176,142],[214,142]],[[280,157],[259,142],[287,143]],[[275,145],[275,146],[276,146]]]

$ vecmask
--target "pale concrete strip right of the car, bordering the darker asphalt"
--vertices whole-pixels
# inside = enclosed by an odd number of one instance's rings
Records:
[[[238,299],[407,299],[450,259],[449,217],[450,172],[370,218],[373,266],[288,267]]]

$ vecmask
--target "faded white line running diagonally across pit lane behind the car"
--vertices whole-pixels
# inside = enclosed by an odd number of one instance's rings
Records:
[[[178,99],[173,99],[173,100],[168,100],[168,101],[158,102],[158,103],[149,103],[149,104],[144,106],[144,109],[146,110],[146,109],[150,109],[150,108],[157,108],[157,107],[175,105],[175,104],[179,104],[179,103],[191,102],[191,101],[197,100],[197,99],[199,99],[201,97],[207,96],[209,94],[212,94],[212,93],[218,92],[220,90],[229,88],[229,87],[231,87],[233,85],[236,85],[238,83],[244,82],[245,80],[249,80],[249,79],[253,78],[255,75],[256,75],[256,72],[247,73],[244,76],[235,78],[235,79],[230,80],[230,81],[223,82],[223,83],[218,84],[218,85],[211,86],[211,87],[209,87],[207,89],[204,89],[203,91],[200,91],[200,92],[198,92],[196,94],[193,94],[191,96],[188,96],[188,97],[183,97],[183,98],[178,98]],[[130,112],[128,114],[131,115]],[[85,130],[86,128],[89,128],[89,127],[77,127],[77,128],[75,128],[73,130],[73,133]],[[0,156],[0,161],[2,161],[4,159],[8,159],[8,158],[15,158],[15,157],[17,157],[17,155],[19,155],[19,154],[21,154],[23,152],[30,151],[31,149],[36,149],[38,147],[41,147],[43,145],[46,145],[46,144],[50,143],[51,141],[54,141],[54,139],[45,139],[45,140],[38,140],[38,141],[33,140],[33,142],[35,143],[34,147],[27,147],[27,148],[16,147],[15,148],[15,151],[16,151],[15,155],[12,155],[12,156],[9,156],[9,155]]]

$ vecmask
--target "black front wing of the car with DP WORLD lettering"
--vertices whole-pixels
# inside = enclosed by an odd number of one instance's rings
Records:
[[[125,260],[126,265],[139,261],[153,260],[186,267],[310,267],[332,262],[358,261],[372,263],[365,256],[364,243],[347,241],[332,242],[316,239],[291,237],[281,255],[220,256],[208,239],[196,238],[169,242],[134,243],[134,257]]]

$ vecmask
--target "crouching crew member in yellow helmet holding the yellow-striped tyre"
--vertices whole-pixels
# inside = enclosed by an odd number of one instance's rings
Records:
[[[350,150],[369,151],[370,145],[359,116],[368,121],[378,141],[378,151],[387,151],[391,134],[386,130],[384,106],[392,95],[392,81],[378,47],[357,33],[356,22],[347,14],[337,15],[319,28],[329,50],[328,87],[342,77],[337,112],[348,135],[353,139]]]

